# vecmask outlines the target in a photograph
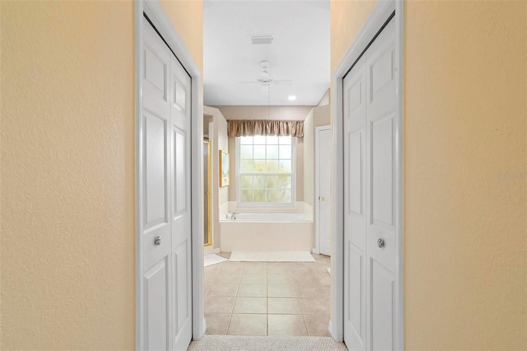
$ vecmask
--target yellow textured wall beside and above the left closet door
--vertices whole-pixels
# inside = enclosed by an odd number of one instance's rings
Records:
[[[0,348],[133,349],[133,3],[0,6]]]

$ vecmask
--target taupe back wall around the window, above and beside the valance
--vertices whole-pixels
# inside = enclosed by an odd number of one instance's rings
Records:
[[[269,119],[268,106],[218,105],[227,120]],[[270,119],[304,120],[313,106],[270,106]],[[296,148],[296,200],[304,201],[304,139],[294,138]],[[231,179],[229,201],[236,201],[236,138],[229,137]]]

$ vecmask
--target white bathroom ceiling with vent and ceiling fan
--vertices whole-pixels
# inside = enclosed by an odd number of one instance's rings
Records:
[[[252,45],[250,35],[273,34],[272,44]],[[271,105],[316,105],[329,87],[329,1],[205,1],[203,77],[207,105],[267,105],[259,77],[292,79],[272,85]],[[289,101],[296,95],[296,101]]]

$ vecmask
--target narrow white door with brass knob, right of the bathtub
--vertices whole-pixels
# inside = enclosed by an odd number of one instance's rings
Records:
[[[330,255],[331,249],[331,131],[329,126],[319,127],[315,135],[317,159],[316,226],[319,252]]]

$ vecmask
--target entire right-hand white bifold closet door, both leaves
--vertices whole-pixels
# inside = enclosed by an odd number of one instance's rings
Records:
[[[344,79],[344,340],[395,345],[395,21]]]

